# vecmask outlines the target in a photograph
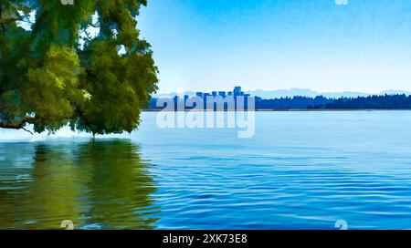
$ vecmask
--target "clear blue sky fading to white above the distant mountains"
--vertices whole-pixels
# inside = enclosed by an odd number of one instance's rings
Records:
[[[139,28],[153,45],[160,93],[411,90],[410,0],[148,2]]]

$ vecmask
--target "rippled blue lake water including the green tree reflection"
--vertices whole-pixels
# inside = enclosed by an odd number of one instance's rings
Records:
[[[0,229],[411,228],[411,111],[257,112],[250,139],[155,120],[0,130]]]

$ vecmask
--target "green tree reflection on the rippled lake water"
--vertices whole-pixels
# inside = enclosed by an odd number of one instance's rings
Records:
[[[151,166],[129,140],[0,144],[0,228],[153,229]]]

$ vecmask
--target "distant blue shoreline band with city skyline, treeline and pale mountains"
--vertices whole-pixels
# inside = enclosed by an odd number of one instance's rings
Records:
[[[152,98],[148,109],[154,111],[187,110],[290,110],[290,109],[411,109],[411,92],[389,91],[380,95],[345,92],[340,97],[319,94],[306,89],[294,89],[293,96],[273,96],[277,91],[244,92],[240,86],[232,91],[195,92],[184,96],[175,95]],[[284,94],[285,92],[277,92]],[[162,125],[163,126],[163,125]]]

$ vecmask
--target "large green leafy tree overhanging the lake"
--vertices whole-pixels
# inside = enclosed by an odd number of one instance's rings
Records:
[[[158,82],[146,0],[69,2],[0,0],[0,128],[131,132]]]

